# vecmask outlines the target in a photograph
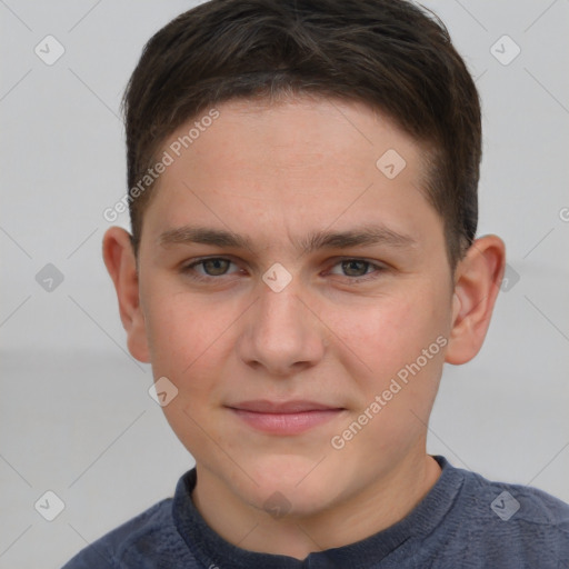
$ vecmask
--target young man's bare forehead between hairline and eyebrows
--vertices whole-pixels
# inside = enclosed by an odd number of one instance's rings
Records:
[[[295,239],[380,221],[419,238],[426,210],[438,219],[422,191],[423,149],[362,103],[232,100],[216,111],[216,120],[194,117],[163,144],[172,163],[147,212],[154,240],[204,219],[249,234],[282,228]]]

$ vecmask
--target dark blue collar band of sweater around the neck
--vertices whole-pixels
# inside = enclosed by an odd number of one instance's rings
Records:
[[[445,457],[433,456],[441,475],[427,496],[400,521],[360,541],[310,553],[300,561],[288,556],[259,553],[236,547],[216,533],[203,520],[191,499],[196,487],[196,468],[178,481],[172,513],[181,537],[203,567],[233,569],[369,569],[401,547],[410,538],[430,533],[452,507],[463,482],[463,473]]]

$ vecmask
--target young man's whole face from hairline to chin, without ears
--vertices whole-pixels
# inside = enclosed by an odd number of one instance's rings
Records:
[[[423,150],[366,106],[217,109],[144,212],[149,358],[203,476],[309,513],[425,457],[452,321],[442,221]]]

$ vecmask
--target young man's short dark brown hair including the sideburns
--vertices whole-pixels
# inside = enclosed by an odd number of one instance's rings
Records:
[[[445,24],[406,0],[210,0],[177,17],[146,44],[124,93],[128,187],[204,109],[279,93],[365,102],[425,142],[425,191],[456,267],[478,222],[480,102]],[[151,187],[137,193],[138,256]]]

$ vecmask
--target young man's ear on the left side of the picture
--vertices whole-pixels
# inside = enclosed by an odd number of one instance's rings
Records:
[[[150,362],[144,315],[140,306],[134,251],[130,233],[111,227],[102,240],[102,257],[119,300],[120,319],[127,330],[127,345],[137,360]]]

